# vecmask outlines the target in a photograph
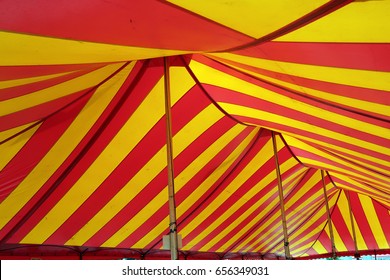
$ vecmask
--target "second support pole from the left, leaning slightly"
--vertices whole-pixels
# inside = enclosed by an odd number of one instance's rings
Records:
[[[286,222],[286,213],[284,210],[284,197],[283,197],[283,186],[282,186],[282,177],[280,176],[280,167],[278,159],[278,148],[276,146],[275,132],[272,131],[272,143],[274,147],[274,157],[275,157],[275,166],[276,166],[276,177],[278,179],[278,191],[279,191],[279,201],[280,201],[280,212],[282,214],[282,225],[283,225],[283,235],[284,235],[284,252],[286,259],[291,259],[290,246],[288,241],[288,231],[287,231],[287,222]]]

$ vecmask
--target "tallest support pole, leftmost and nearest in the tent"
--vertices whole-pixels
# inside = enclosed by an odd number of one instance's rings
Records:
[[[165,93],[165,115],[166,115],[166,137],[167,137],[167,168],[168,168],[168,202],[169,202],[169,236],[171,259],[178,259],[177,225],[176,225],[176,202],[173,170],[172,150],[172,116],[171,116],[171,94],[169,83],[169,63],[164,57],[164,93]]]

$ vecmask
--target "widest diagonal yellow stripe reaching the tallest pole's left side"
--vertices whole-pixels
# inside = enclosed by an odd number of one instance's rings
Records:
[[[164,115],[163,79],[137,108],[95,162],[68,193],[26,235],[23,243],[42,243],[100,186]],[[115,88],[117,91],[118,88]],[[145,112],[148,112],[145,114]],[[142,124],[142,125],[139,125]],[[137,127],[137,129],[134,129]]]

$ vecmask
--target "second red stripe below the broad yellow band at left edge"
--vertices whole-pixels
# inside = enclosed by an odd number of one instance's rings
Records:
[[[28,94],[39,94],[36,93],[36,91],[46,89],[58,84],[65,83],[67,81],[73,80],[77,77],[83,76],[85,74],[88,74],[94,70],[96,70],[97,67],[94,68],[88,68],[86,70],[80,70],[77,72],[72,72],[60,77],[50,78],[43,81],[38,81],[34,83],[29,83],[25,85],[19,85],[14,86],[10,88],[0,89],[0,101],[16,98],[22,95],[28,95]]]

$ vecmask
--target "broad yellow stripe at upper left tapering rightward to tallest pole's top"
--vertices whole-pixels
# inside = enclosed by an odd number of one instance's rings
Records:
[[[0,31],[0,42],[1,66],[120,62],[191,52],[73,41],[4,31]]]

